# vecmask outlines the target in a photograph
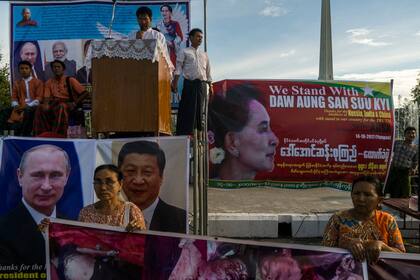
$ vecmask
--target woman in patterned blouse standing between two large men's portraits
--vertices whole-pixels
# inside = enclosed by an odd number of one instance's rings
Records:
[[[141,210],[119,197],[122,174],[112,164],[95,169],[93,186],[99,201],[80,210],[79,221],[87,223],[123,226],[128,231],[146,229]]]

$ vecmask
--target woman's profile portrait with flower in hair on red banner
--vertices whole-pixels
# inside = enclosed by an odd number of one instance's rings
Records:
[[[216,93],[209,103],[210,178],[253,180],[274,168],[279,143],[261,94],[250,85]]]

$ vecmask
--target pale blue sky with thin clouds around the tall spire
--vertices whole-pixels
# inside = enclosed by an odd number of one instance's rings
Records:
[[[9,56],[8,1],[0,52]],[[335,80],[394,81],[398,107],[420,73],[420,1],[331,0]],[[317,79],[321,0],[207,0],[207,51],[215,81]],[[191,26],[204,28],[203,0]]]

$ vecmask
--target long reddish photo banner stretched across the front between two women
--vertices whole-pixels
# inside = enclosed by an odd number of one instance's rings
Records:
[[[47,250],[49,279],[366,279],[365,263],[341,249],[64,220],[50,224]]]

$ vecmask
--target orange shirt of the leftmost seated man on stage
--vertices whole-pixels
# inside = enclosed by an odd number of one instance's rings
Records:
[[[44,91],[44,85],[42,81],[32,77],[32,80],[29,81],[29,96],[32,100],[39,100],[42,101]],[[12,101],[16,101],[19,103],[20,106],[25,106],[25,99],[26,99],[26,86],[25,81],[20,79],[18,81],[13,82],[13,89],[12,89]]]

